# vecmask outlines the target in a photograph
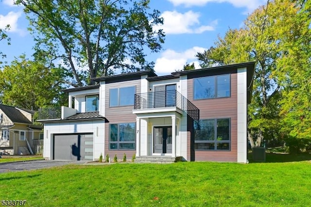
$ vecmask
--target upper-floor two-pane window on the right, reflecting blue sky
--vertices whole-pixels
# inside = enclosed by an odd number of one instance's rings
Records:
[[[230,97],[230,74],[193,80],[193,100],[223,97]]]

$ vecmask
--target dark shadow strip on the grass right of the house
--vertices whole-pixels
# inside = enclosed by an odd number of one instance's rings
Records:
[[[248,153],[247,155],[250,163],[256,163],[253,160],[252,153]],[[272,153],[266,152],[266,163],[271,162],[299,162],[299,161],[307,161],[311,160],[311,154],[302,153],[302,154],[281,154],[281,153]]]

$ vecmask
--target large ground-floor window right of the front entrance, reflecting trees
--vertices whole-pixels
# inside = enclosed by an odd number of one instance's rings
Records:
[[[195,150],[230,150],[230,119],[194,122]]]

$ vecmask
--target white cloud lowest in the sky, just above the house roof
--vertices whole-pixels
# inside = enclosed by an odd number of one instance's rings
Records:
[[[161,57],[155,61],[155,72],[158,75],[169,74],[175,70],[183,69],[186,63],[190,65],[194,63],[195,68],[199,68],[199,62],[195,55],[197,52],[204,52],[206,49],[201,47],[193,47],[184,52],[175,52],[173,50],[166,50],[161,53]]]

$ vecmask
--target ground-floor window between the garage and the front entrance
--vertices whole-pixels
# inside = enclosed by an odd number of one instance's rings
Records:
[[[110,124],[109,150],[135,150],[135,123]]]

